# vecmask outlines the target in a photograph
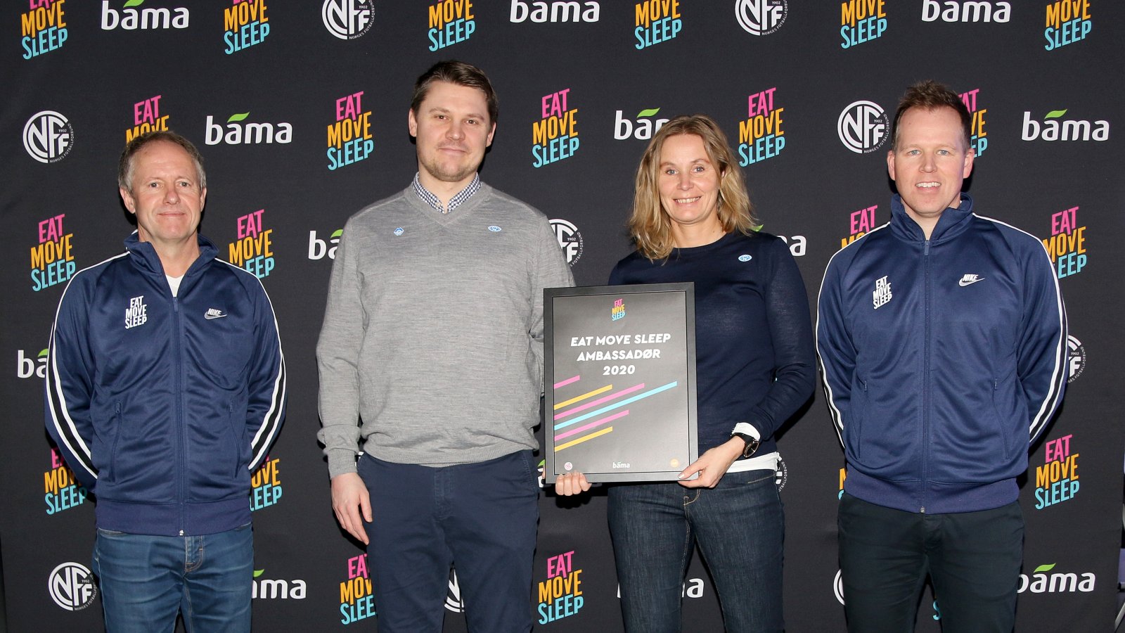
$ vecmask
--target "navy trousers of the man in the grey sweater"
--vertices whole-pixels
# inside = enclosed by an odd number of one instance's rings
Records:
[[[364,454],[364,523],[380,633],[440,633],[449,568],[472,633],[531,631],[539,472],[531,451],[431,467]]]

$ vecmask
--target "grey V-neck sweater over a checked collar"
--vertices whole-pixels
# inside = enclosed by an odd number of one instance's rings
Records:
[[[542,291],[572,285],[547,217],[484,184],[449,214],[408,187],[351,216],[316,347],[328,474],[361,449],[446,466],[536,448]]]

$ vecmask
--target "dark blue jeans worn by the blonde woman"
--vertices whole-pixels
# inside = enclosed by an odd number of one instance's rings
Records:
[[[773,471],[728,473],[713,489],[613,485],[608,511],[626,631],[680,631],[684,574],[696,541],[727,632],[784,628],[785,518]]]

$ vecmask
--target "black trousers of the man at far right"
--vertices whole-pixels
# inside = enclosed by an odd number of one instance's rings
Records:
[[[837,520],[848,631],[914,631],[929,574],[942,631],[1011,633],[1024,554],[1018,502],[924,515],[845,492]]]

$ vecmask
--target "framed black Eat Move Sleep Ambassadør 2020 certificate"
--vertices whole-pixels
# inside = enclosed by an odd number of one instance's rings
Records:
[[[544,481],[670,481],[699,457],[694,285],[543,291]]]

